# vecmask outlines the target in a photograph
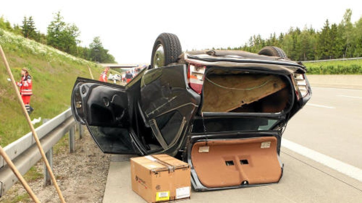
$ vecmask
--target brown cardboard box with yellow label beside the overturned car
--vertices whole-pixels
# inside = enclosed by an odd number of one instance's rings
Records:
[[[166,154],[131,158],[132,190],[147,202],[189,199],[189,164]]]

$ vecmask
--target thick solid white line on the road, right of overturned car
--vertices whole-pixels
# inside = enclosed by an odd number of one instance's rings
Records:
[[[310,148],[303,147],[302,145],[289,141],[285,138],[282,139],[282,146],[309,159],[317,161],[329,168],[337,170],[338,172],[341,172],[349,177],[362,181],[362,170],[353,165],[346,164],[340,160],[311,150]]]

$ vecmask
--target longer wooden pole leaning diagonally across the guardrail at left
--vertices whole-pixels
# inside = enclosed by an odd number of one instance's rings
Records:
[[[58,184],[56,183],[54,174],[53,174],[53,172],[52,172],[52,170],[51,170],[51,168],[50,168],[50,165],[49,165],[49,163],[48,163],[48,160],[46,159],[46,156],[45,156],[44,150],[43,150],[43,148],[42,148],[42,146],[41,146],[41,143],[40,143],[40,141],[39,141],[37,132],[35,132],[35,129],[34,129],[33,124],[31,123],[29,114],[28,114],[28,112],[26,111],[26,108],[25,108],[24,103],[22,102],[20,93],[19,93],[19,91],[18,91],[18,87],[17,87],[17,85],[16,85],[16,83],[15,83],[13,74],[11,73],[10,66],[9,66],[9,64],[8,64],[8,61],[7,61],[6,57],[5,57],[5,53],[4,53],[3,48],[1,47],[1,45],[0,45],[0,54],[1,54],[1,57],[3,57],[3,61],[4,61],[4,64],[5,64],[5,67],[6,67],[7,71],[8,71],[8,73],[9,73],[11,82],[12,82],[12,84],[13,84],[15,93],[16,93],[17,98],[18,98],[18,102],[19,102],[20,105],[21,105],[21,109],[22,109],[22,111],[23,111],[23,113],[24,113],[24,115],[25,115],[26,120],[28,121],[28,124],[29,124],[29,126],[30,126],[31,132],[33,133],[33,137],[34,137],[34,139],[35,139],[35,142],[37,143],[37,146],[38,146],[38,148],[39,148],[39,152],[40,152],[40,154],[42,155],[43,161],[44,161],[44,163],[45,163],[45,165],[46,165],[46,168],[48,169],[48,171],[49,171],[49,173],[50,173],[50,176],[51,176],[51,179],[52,179],[52,181],[53,181],[53,183],[54,183],[54,187],[55,187],[55,189],[56,189],[56,191],[57,191],[57,193],[58,193],[58,195],[59,195],[60,202],[65,203],[65,200],[64,200],[64,198],[63,198],[62,192],[60,191],[60,189],[59,189],[59,187],[58,187]]]

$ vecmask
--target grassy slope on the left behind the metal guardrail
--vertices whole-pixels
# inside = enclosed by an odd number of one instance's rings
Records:
[[[20,70],[29,69],[33,77],[33,96],[30,105],[35,109],[30,118],[53,118],[70,107],[71,91],[75,79],[98,79],[103,68],[93,62],[79,59],[0,29],[0,44],[5,52],[16,81],[20,81]],[[9,75],[0,59],[0,145],[15,141],[30,131],[21,111]],[[35,128],[41,123],[35,125]]]

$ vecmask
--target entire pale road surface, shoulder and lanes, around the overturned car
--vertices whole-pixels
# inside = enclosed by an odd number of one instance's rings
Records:
[[[185,202],[361,202],[362,90],[312,89],[283,134],[277,184],[192,192]],[[113,156],[104,202],[145,202],[131,189],[128,156]]]

